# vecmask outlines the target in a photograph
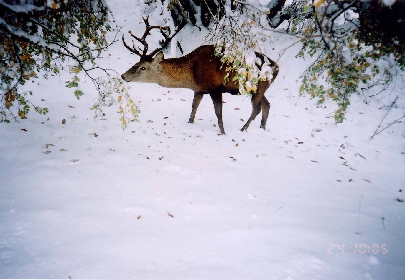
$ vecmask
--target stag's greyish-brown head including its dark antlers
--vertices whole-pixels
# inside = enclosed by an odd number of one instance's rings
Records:
[[[156,26],[156,25],[149,25],[149,16],[142,17],[143,21],[145,22],[145,32],[143,33],[143,36],[141,38],[138,38],[132,34],[131,31],[128,31],[130,35],[139,41],[141,44],[143,44],[143,50],[142,53],[139,52],[136,47],[135,47],[135,42],[132,40],[132,48],[128,46],[125,43],[124,40],[124,35],[122,35],[122,43],[124,46],[133,52],[134,54],[138,55],[141,60],[138,63],[135,63],[130,69],[128,69],[124,74],[121,75],[122,79],[124,81],[137,81],[137,82],[147,82],[147,83],[157,83],[159,79],[159,75],[156,75],[157,73],[160,73],[160,67],[161,63],[163,61],[163,52],[162,50],[168,45],[170,40],[179,33],[179,31],[186,25],[187,21],[185,20],[185,15],[183,13],[183,19],[179,26],[177,27],[177,30],[173,33],[173,35],[170,35],[170,28],[169,27],[161,27],[161,26]],[[164,37],[164,41],[162,43],[162,46],[160,48],[156,48],[149,54],[147,54],[148,51],[148,43],[146,42],[146,37],[149,35],[149,32],[152,29],[159,29],[160,33]],[[165,31],[169,32],[169,34],[166,34]],[[153,56],[156,54],[156,56],[153,58]]]

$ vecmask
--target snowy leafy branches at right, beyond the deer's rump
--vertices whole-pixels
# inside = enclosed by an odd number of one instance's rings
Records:
[[[284,10],[291,15],[287,31],[303,42],[298,57],[315,57],[303,73],[300,93],[317,98],[318,106],[326,98],[335,101],[337,123],[360,85],[384,90],[404,70],[405,15],[391,9],[377,1],[318,0],[294,2]]]

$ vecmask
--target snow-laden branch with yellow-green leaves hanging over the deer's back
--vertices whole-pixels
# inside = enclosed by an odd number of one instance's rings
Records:
[[[260,28],[266,21],[269,9],[256,5],[255,1],[222,1],[217,12],[211,13],[211,43],[216,54],[226,67],[227,80],[230,72],[236,73],[233,80],[239,84],[239,94],[252,96],[259,81],[271,80],[273,69],[266,56],[260,61],[255,52],[264,53],[263,44],[270,41],[269,34]],[[221,10],[226,11],[223,17]],[[258,65],[261,65],[259,67]]]

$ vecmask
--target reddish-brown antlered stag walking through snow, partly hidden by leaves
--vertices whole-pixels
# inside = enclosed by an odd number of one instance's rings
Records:
[[[141,61],[134,64],[134,66],[122,74],[122,79],[127,82],[156,83],[168,88],[189,88],[193,90],[193,108],[188,121],[189,123],[194,123],[194,117],[201,99],[204,94],[209,94],[214,104],[221,133],[225,134],[224,124],[222,123],[222,93],[228,92],[233,95],[239,93],[239,84],[237,81],[232,81],[235,73],[230,73],[228,81],[225,81],[224,77],[226,71],[224,67],[222,67],[220,58],[215,56],[215,47],[211,45],[200,46],[185,56],[174,59],[163,59],[162,49],[166,47],[173,36],[185,26],[186,20],[184,17],[172,36],[168,36],[163,31],[167,30],[167,27],[149,25],[148,17],[146,19],[143,18],[143,21],[145,21],[146,30],[142,38],[134,36],[129,31],[134,39],[143,44],[144,49],[142,53],[135,48],[134,42],[132,42],[132,48],[130,48],[124,41],[124,35],[122,36],[124,46],[141,57]],[[160,48],[156,48],[156,50],[147,54],[148,44],[145,38],[152,29],[160,29],[165,40]],[[155,54],[156,56],[153,58]],[[258,65],[259,69],[261,69],[264,63],[264,55],[256,52],[256,56],[261,60],[261,64]],[[271,80],[259,81],[256,93],[252,93],[252,115],[250,115],[245,125],[243,125],[241,131],[245,131],[247,127],[249,127],[250,122],[260,113],[260,108],[263,114],[260,127],[263,129],[266,127],[270,102],[264,96],[264,92],[266,92],[277,76],[279,69],[274,61],[269,58],[267,59],[270,62],[270,66],[273,68],[273,78]]]

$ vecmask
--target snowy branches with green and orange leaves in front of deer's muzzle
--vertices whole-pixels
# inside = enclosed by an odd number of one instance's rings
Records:
[[[26,118],[31,107],[45,115],[48,109],[32,104],[28,99],[32,92],[20,92],[19,86],[40,74],[47,77],[49,73],[58,74],[62,70],[73,75],[66,86],[74,90],[77,99],[83,95],[79,73],[84,72],[85,77],[93,81],[100,94],[99,103],[94,104],[98,113],[102,106],[114,103],[113,93],[121,96],[120,100],[123,97],[131,99],[119,86],[122,84],[119,78],[112,78],[109,87],[105,88],[105,81],[93,77],[96,69],[108,77],[116,76],[115,71],[103,69],[96,63],[100,52],[116,42],[115,39],[110,44],[106,41],[106,34],[111,31],[108,19],[109,10],[104,0],[32,0],[26,3],[0,0],[0,120],[16,119],[16,113]],[[70,65],[67,69],[63,66],[65,61]],[[111,83],[117,86],[111,87]],[[135,119],[138,109],[130,108],[128,111]]]

